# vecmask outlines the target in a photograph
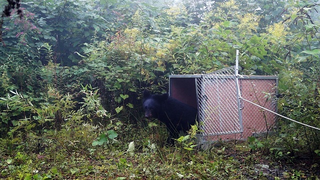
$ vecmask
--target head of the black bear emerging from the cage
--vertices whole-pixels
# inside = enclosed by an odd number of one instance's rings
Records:
[[[143,91],[143,109],[146,118],[158,118],[163,113],[162,105],[168,98],[168,94],[150,94],[148,90]]]

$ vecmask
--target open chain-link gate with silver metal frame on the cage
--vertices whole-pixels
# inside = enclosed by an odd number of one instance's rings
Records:
[[[235,66],[197,78],[202,136],[243,131]]]

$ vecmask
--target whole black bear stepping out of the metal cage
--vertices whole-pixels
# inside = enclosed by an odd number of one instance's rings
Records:
[[[147,118],[157,118],[166,125],[169,137],[166,143],[173,144],[178,138],[179,131],[184,132],[195,124],[197,119],[197,109],[170,97],[167,93],[150,94],[148,90],[143,91],[144,116]]]

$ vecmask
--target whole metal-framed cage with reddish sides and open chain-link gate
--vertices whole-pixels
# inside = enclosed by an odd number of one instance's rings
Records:
[[[236,74],[233,66],[207,74],[169,76],[169,95],[198,109],[201,141],[244,139],[275,127],[274,113],[239,96],[276,112],[277,76]]]

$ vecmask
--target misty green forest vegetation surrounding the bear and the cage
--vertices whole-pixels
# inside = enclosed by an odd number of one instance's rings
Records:
[[[0,9],[0,179],[319,179],[320,1],[0,0]],[[278,77],[264,98],[296,122],[276,116],[274,133],[205,147],[197,122],[166,144],[165,124],[144,117],[143,90],[231,67],[236,50],[239,74]]]

